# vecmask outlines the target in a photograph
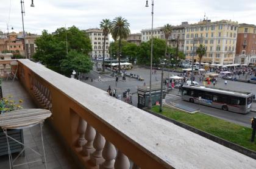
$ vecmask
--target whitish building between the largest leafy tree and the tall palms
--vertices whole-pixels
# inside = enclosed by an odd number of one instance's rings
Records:
[[[90,52],[91,58],[102,58],[103,57],[103,49],[104,49],[104,35],[103,30],[95,28],[95,29],[87,29],[84,30],[86,35],[91,40],[91,46],[93,50]],[[105,41],[105,58],[109,58],[108,48],[109,48],[109,34],[106,37]]]

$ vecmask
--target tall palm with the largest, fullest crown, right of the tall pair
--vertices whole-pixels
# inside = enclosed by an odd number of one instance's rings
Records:
[[[121,57],[121,40],[126,39],[130,34],[130,24],[122,16],[116,17],[111,23],[111,34],[113,39],[116,41],[119,39],[118,43],[118,73],[120,74],[120,57]]]

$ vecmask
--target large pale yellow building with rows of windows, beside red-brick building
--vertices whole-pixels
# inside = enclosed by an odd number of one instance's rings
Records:
[[[232,64],[235,59],[236,36],[238,23],[221,20],[212,22],[204,19],[196,24],[185,26],[186,60],[199,61],[196,49],[204,44],[207,53],[202,58],[202,63]],[[194,44],[194,47],[193,47]]]

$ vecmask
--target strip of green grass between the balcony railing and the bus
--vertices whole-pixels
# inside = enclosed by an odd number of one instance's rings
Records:
[[[153,106],[152,111],[160,113],[159,106]],[[235,123],[230,123],[226,120],[208,116],[200,112],[189,114],[176,109],[163,107],[163,111],[160,114],[256,151],[256,141],[254,143],[251,142],[252,128],[236,125]]]

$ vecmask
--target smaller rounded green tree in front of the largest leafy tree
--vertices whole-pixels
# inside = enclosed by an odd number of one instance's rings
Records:
[[[90,72],[93,69],[93,62],[84,53],[73,49],[68,52],[68,57],[61,61],[60,67],[63,74],[69,76],[73,70],[80,73]]]

